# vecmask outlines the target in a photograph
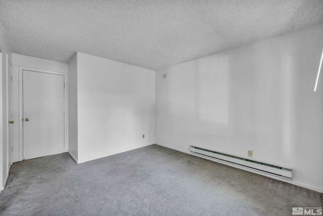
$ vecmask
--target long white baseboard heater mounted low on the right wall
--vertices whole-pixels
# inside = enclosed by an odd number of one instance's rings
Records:
[[[196,146],[190,146],[190,151],[195,154],[209,157],[210,159],[225,161],[226,163],[242,166],[244,168],[248,168],[260,173],[265,173],[283,179],[292,180],[292,169],[265,164],[259,161],[237,157],[230,154],[212,151]]]

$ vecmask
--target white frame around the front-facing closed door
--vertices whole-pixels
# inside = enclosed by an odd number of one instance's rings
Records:
[[[34,68],[19,67],[19,161],[23,160],[23,70],[64,76],[64,152],[68,150],[68,109],[67,109],[67,74]]]

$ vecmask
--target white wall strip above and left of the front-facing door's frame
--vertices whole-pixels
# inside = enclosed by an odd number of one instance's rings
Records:
[[[12,54],[13,61],[13,161],[19,161],[19,67],[68,73],[68,64],[35,57]],[[20,131],[22,133],[22,131]],[[22,158],[21,158],[22,159]]]

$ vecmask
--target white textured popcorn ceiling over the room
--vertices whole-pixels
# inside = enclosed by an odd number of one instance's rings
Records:
[[[0,22],[14,53],[157,70],[321,24],[323,1],[0,0]]]

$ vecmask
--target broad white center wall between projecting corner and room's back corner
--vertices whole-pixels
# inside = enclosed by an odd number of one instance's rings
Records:
[[[154,79],[154,71],[77,53],[78,163],[155,142]]]

